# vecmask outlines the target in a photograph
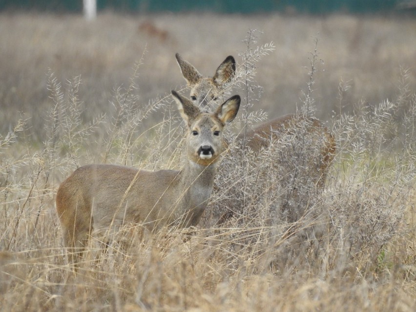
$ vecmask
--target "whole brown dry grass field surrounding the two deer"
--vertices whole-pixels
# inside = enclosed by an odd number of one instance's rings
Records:
[[[0,311],[415,311],[415,19],[3,13],[0,38]],[[313,104],[337,142],[326,187],[302,132],[244,159],[230,140],[192,236],[129,225],[74,275],[56,189],[88,163],[179,166],[176,52],[204,75],[236,58],[234,133]],[[218,209],[238,213],[211,228]]]

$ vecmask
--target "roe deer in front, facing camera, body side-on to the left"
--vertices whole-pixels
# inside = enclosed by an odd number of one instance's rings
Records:
[[[87,165],[58,188],[56,209],[63,241],[65,247],[76,249],[77,258],[82,257],[92,229],[107,231],[130,222],[152,231],[164,225],[197,225],[225,149],[223,129],[235,118],[240,97],[235,95],[207,113],[175,91],[172,95],[187,124],[185,159],[179,171]],[[73,256],[71,261],[77,262]]]

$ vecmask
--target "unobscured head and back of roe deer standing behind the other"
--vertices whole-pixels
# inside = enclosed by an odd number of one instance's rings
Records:
[[[198,70],[189,62],[185,61],[179,53],[176,60],[181,68],[182,74],[190,87],[190,97],[193,104],[202,106],[204,109],[212,110],[212,105],[228,87],[229,82],[235,75],[236,66],[232,56],[228,56],[217,68],[212,78],[203,77]],[[307,134],[312,134],[313,140],[320,144],[321,159],[316,168],[315,185],[324,187],[328,167],[331,165],[334,152],[335,140],[332,133],[321,121],[312,117],[288,114],[269,121],[255,125],[246,133],[240,133],[236,140],[240,144],[249,146],[253,152],[259,152],[262,148],[269,147],[279,136],[285,133],[295,132],[296,128],[306,127]]]

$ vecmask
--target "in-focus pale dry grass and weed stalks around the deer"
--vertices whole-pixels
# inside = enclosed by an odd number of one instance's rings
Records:
[[[272,49],[248,36],[230,85],[246,97],[241,131],[266,118],[253,104],[261,94],[254,78]],[[315,111],[316,45],[300,116]],[[260,155],[237,146],[234,129],[193,235],[164,229],[141,237],[140,225],[126,225],[104,253],[91,237],[74,275],[54,209],[63,178],[91,162],[179,166],[179,118],[166,96],[140,102],[140,63],[131,84],[114,92],[114,118],[85,124],[80,77],[63,88],[50,71],[42,145],[26,139],[24,121],[0,137],[2,311],[414,311],[416,96],[406,69],[396,99],[333,116],[337,151],[323,190],[313,183],[320,138],[305,134],[309,125]],[[340,85],[340,106],[347,92],[348,83]],[[154,111],[163,121],[142,128]],[[229,210],[232,217],[212,227]]]

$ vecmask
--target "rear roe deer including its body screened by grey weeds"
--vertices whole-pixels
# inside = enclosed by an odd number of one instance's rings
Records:
[[[233,84],[236,74],[234,58],[228,56],[212,78],[203,77],[179,54],[176,54],[176,60],[190,87],[193,103],[212,111],[218,102],[216,100]],[[323,123],[297,114],[247,128],[235,138],[235,143],[233,152],[222,161],[221,173],[215,179],[214,192],[221,189],[221,195],[202,217],[205,227],[221,225],[235,215],[257,215],[256,205],[260,200],[273,206],[269,210],[273,218],[275,213],[279,213],[279,220],[297,221],[310,204],[307,202],[311,198],[308,194],[313,190],[323,190],[335,152],[334,137]],[[255,169],[249,171],[244,165],[236,169],[235,164],[244,164],[245,161],[251,162],[249,167]],[[256,180],[250,180],[251,177]],[[245,191],[250,185],[249,180],[254,186],[250,187],[250,195]]]

